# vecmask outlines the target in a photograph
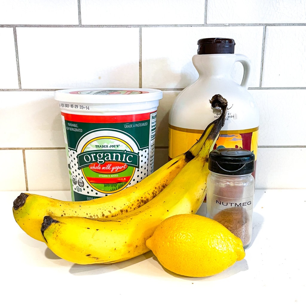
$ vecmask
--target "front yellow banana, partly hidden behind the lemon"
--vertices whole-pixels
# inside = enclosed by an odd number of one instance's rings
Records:
[[[226,100],[218,95],[217,102],[222,103],[221,119],[212,127],[198,155],[162,192],[122,216],[107,219],[46,216],[41,232],[51,251],[78,264],[120,262],[148,252],[145,241],[162,220],[177,214],[195,214],[206,194],[208,155],[226,113]]]

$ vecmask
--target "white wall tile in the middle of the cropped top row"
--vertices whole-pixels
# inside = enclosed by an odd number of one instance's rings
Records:
[[[82,24],[203,24],[202,0],[81,0]]]

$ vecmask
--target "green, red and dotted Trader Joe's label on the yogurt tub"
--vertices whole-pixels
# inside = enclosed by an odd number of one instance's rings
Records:
[[[156,113],[103,116],[62,111],[74,201],[110,195],[153,172]]]

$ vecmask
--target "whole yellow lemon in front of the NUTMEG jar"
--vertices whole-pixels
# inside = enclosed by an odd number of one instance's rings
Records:
[[[200,215],[165,219],[146,245],[163,267],[190,277],[215,275],[245,256],[240,238],[219,222]]]

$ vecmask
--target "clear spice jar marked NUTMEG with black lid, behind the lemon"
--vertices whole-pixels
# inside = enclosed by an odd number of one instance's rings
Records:
[[[207,217],[242,240],[244,249],[252,238],[255,155],[240,148],[222,148],[209,154]]]

